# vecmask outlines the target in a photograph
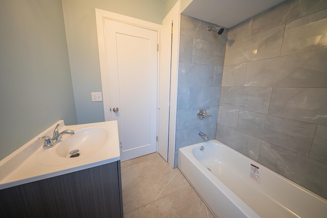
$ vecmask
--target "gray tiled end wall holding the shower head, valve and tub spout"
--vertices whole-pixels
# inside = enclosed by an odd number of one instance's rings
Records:
[[[179,148],[204,141],[197,132],[216,137],[227,29],[218,36],[207,31],[209,25],[181,16],[175,167]],[[198,119],[201,108],[212,117]]]

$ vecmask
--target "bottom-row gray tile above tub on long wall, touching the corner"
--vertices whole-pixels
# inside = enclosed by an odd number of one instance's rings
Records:
[[[216,139],[247,157],[258,161],[261,144],[259,138],[217,124]]]

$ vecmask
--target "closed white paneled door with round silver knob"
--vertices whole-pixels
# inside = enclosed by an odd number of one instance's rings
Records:
[[[157,32],[104,21],[111,119],[118,120],[121,160],[157,150]],[[104,95],[105,96],[105,95]]]

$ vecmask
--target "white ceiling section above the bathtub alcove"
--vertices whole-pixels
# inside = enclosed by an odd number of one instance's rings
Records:
[[[285,0],[193,0],[182,14],[230,28]]]

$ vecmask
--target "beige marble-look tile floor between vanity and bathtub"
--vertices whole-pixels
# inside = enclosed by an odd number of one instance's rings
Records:
[[[179,169],[158,153],[124,161],[121,169],[125,218],[215,217]]]

